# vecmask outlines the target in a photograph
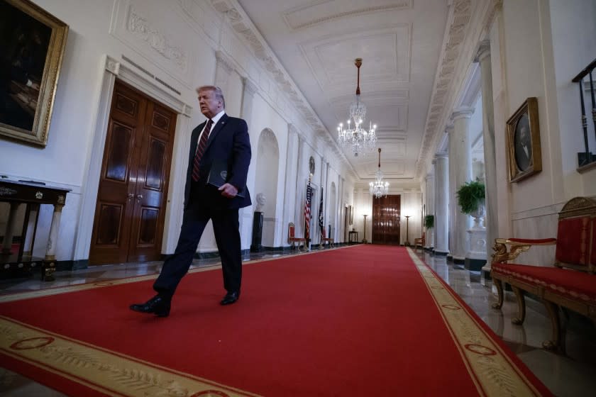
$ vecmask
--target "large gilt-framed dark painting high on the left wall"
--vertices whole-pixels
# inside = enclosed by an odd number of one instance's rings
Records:
[[[48,143],[68,26],[28,0],[0,0],[0,138]]]

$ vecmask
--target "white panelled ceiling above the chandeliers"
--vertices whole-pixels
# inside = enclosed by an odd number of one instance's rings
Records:
[[[454,0],[229,1],[238,2],[275,52],[329,140],[338,140],[337,125],[348,118],[354,60],[362,58],[364,125],[377,124],[381,169],[387,177],[414,179]],[[363,181],[374,177],[376,150],[344,154]]]

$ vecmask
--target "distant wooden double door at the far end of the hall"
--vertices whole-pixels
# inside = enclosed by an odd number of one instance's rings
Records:
[[[401,196],[373,198],[373,244],[399,245]]]

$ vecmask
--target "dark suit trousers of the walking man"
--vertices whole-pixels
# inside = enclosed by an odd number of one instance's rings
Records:
[[[153,289],[161,296],[172,298],[182,277],[187,274],[205,226],[211,219],[223,272],[223,288],[240,291],[242,252],[238,223],[238,208],[212,209],[190,205],[184,210],[180,237],[173,255],[168,257]]]

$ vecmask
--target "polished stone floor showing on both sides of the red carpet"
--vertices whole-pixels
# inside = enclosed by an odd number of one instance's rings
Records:
[[[566,354],[555,354],[541,348],[542,342],[551,337],[551,323],[541,303],[526,298],[524,325],[513,325],[517,305],[512,292],[507,296],[502,310],[491,308],[497,301],[496,291],[490,280],[481,279],[480,272],[469,272],[446,262],[445,257],[435,257],[418,250],[417,255],[426,262],[468,303],[497,335],[507,343],[517,356],[541,379],[556,396],[596,395],[596,329],[580,315],[570,313],[567,321]],[[261,252],[244,259],[263,259],[280,256],[278,252]],[[219,259],[196,259],[193,267],[216,264]],[[155,274],[162,262],[117,264],[89,267],[73,272],[56,272],[55,281],[38,279],[0,280],[0,295],[38,289],[68,286],[123,277]],[[435,369],[440,371],[441,369]],[[446,393],[448,395],[448,393]],[[64,396],[50,388],[31,381],[1,367],[0,397],[58,397]]]

